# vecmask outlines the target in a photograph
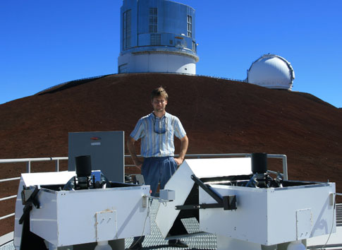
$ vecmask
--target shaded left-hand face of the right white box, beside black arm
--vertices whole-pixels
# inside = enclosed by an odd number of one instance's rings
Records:
[[[236,195],[237,210],[200,209],[200,230],[245,242],[267,244],[267,191],[241,186],[211,185],[222,196]],[[200,189],[200,203],[216,203]]]

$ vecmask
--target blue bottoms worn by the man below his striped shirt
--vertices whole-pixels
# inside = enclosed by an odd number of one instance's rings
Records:
[[[144,158],[141,174],[144,177],[145,184],[151,187],[152,196],[156,195],[159,183],[160,189],[164,189],[166,182],[176,172],[176,169],[177,163],[173,156]]]

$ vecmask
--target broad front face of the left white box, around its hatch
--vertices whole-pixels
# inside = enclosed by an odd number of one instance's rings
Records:
[[[142,208],[143,195],[149,195],[149,186],[59,193],[58,245],[96,242],[95,215],[107,210],[116,210],[117,228],[113,239],[149,234],[149,208]],[[71,238],[68,232],[73,225],[83,230],[75,231]]]

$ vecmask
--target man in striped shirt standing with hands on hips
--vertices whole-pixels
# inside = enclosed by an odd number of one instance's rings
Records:
[[[188,137],[179,119],[166,112],[168,94],[164,88],[156,88],[151,93],[153,112],[142,117],[130,133],[127,146],[136,167],[141,169],[145,184],[150,185],[152,196],[157,193],[158,184],[164,189],[167,181],[181,165],[186,150],[188,150]],[[173,138],[181,140],[181,150],[178,158],[174,158],[175,147]],[[141,138],[141,162],[135,153],[135,141]],[[142,249],[144,237],[135,237],[129,249]],[[188,247],[179,239],[169,240],[169,246]]]

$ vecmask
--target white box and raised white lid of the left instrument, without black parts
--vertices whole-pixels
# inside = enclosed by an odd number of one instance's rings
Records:
[[[44,185],[66,184],[75,172],[22,174],[16,201],[14,244],[20,247],[23,186],[39,185],[40,208],[30,211],[30,232],[54,246],[103,242],[150,233],[149,186],[55,191]]]

